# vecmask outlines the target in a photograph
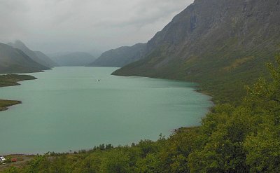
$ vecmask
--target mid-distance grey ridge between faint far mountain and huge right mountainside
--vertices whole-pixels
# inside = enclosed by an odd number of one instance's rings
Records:
[[[123,46],[102,53],[102,55],[89,64],[95,67],[123,67],[126,64],[140,60],[146,53],[146,43],[137,43],[134,46]]]

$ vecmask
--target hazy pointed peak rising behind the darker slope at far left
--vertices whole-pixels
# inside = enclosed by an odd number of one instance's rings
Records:
[[[50,60],[49,57],[41,56],[41,55],[40,57],[38,57],[36,53],[30,50],[29,48],[27,48],[27,46],[25,46],[25,43],[22,43],[22,41],[17,40],[14,43],[8,43],[8,45],[13,46],[13,48],[18,48],[22,50],[26,55],[31,57],[32,60],[38,62],[39,64],[42,64],[45,67],[49,67],[49,68],[54,67],[53,62],[52,60]]]

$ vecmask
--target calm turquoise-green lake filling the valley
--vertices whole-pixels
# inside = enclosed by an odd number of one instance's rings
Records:
[[[112,76],[113,67],[55,67],[0,88],[22,104],[0,112],[0,154],[137,143],[200,125],[212,103],[195,83]],[[99,81],[98,81],[99,80]]]

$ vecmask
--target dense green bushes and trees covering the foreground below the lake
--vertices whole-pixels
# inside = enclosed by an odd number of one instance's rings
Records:
[[[200,127],[131,146],[38,155],[5,172],[280,172],[280,55],[267,67],[270,78],[247,87],[239,106],[216,105]]]

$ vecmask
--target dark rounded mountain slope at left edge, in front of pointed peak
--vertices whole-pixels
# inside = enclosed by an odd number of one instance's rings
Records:
[[[0,43],[0,74],[38,72],[48,69],[32,60],[22,50]]]

